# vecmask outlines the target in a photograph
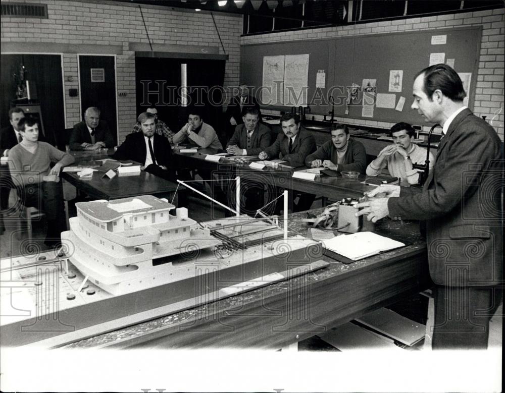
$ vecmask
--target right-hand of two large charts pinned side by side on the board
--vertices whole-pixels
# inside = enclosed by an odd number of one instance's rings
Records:
[[[284,61],[284,105],[306,106],[309,54],[286,54]]]

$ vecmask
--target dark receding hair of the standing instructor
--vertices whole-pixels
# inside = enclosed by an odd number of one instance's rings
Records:
[[[416,78],[424,74],[423,91],[432,100],[435,90],[440,90],[443,95],[452,101],[463,101],[467,96],[463,89],[463,82],[456,71],[446,64],[435,64],[421,70]]]

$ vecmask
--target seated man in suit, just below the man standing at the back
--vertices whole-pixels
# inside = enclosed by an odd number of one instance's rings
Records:
[[[235,127],[226,150],[234,155],[258,155],[270,146],[270,129],[259,122],[258,109],[246,108],[242,116],[243,124]]]

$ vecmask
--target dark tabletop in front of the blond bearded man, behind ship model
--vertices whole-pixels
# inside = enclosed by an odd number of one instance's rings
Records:
[[[76,157],[76,164],[81,161],[99,160],[109,158],[113,149],[84,150],[71,152]],[[115,176],[113,179],[103,177],[103,172],[94,172],[91,179],[79,178],[77,173],[64,172],[62,178],[85,192],[92,198],[97,199],[120,199],[137,195],[156,195],[158,197],[172,198],[177,192],[185,192],[185,187],[151,175],[144,171],[135,176]]]

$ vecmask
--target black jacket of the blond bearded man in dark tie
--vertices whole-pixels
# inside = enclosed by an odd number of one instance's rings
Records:
[[[167,168],[173,167],[172,148],[170,147],[167,138],[158,134],[154,134],[153,138],[153,150],[155,152],[156,162],[158,165],[163,165]],[[144,165],[146,155],[147,148],[145,146],[144,134],[142,132],[135,132],[126,136],[125,141],[118,147],[118,150],[112,155],[112,157],[120,160],[131,159]]]

